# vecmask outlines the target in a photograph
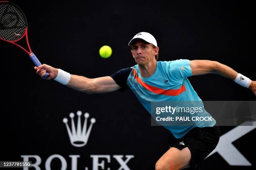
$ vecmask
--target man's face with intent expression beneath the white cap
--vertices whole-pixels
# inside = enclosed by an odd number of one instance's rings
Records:
[[[136,40],[132,45],[131,52],[138,65],[145,65],[156,60],[155,55],[158,53],[158,49],[144,40]]]

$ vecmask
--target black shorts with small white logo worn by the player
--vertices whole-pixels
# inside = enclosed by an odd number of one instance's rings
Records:
[[[220,139],[220,129],[217,125],[213,127],[198,128],[190,130],[182,138],[177,139],[170,134],[169,146],[182,150],[188,147],[191,152],[190,168],[186,170],[199,170],[202,161],[214,150]]]

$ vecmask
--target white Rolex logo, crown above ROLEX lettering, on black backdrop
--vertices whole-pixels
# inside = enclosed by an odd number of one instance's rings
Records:
[[[90,119],[90,125],[89,128],[87,128],[87,121],[88,117],[90,117],[89,113],[84,113],[84,124],[82,126],[81,123],[81,111],[77,111],[77,124],[75,124],[74,113],[70,113],[69,117],[71,118],[71,128],[69,128],[68,125],[68,119],[65,117],[63,119],[63,122],[66,125],[67,132],[69,135],[70,142],[75,147],[82,147],[87,144],[91,130],[92,125],[96,122],[95,118]],[[44,166],[44,170],[52,170],[51,168],[51,162],[52,160],[59,160],[61,163],[61,170],[67,170],[71,167],[71,170],[77,170],[78,169],[78,159],[80,158],[80,155],[68,155],[69,158],[71,158],[71,165],[68,165],[67,162],[67,155],[59,155],[54,154],[50,155],[46,160],[42,160],[42,158],[39,155],[20,155],[21,158],[23,158],[23,161],[31,161],[36,160],[35,162],[31,163],[32,169],[35,170],[41,170],[41,167]],[[90,155],[90,158],[92,158],[92,165],[91,167],[84,167],[83,170],[110,170],[110,168],[106,167],[106,163],[108,165],[114,163],[119,164],[118,170],[131,170],[131,168],[128,167],[127,163],[134,158],[134,155]],[[45,161],[45,163],[44,163]],[[84,158],[81,160],[84,162]],[[44,165],[42,165],[44,164]],[[41,166],[41,167],[40,167]],[[24,167],[23,170],[28,170],[28,167]],[[80,169],[81,170],[81,169]]]

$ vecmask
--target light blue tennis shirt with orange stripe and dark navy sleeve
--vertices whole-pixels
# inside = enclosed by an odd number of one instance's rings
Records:
[[[121,69],[110,77],[122,87],[119,91],[130,88],[149,113],[151,102],[202,101],[187,78],[192,74],[189,60],[157,61],[156,64],[156,71],[151,77],[143,78],[138,65]],[[205,110],[200,114],[210,117]],[[215,123],[212,118],[212,121],[207,123],[187,122],[180,126],[163,126],[171,131],[175,138],[182,138],[192,128],[214,126]]]

